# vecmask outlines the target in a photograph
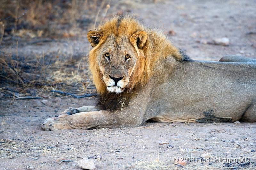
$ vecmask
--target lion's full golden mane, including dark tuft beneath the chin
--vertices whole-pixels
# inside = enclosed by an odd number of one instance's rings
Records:
[[[129,15],[118,15],[107,20],[97,30],[101,36],[97,39],[99,43],[89,52],[89,67],[92,72],[93,82],[101,97],[101,104],[104,105],[104,108],[115,109],[120,104],[125,104],[132,95],[148,83],[154,64],[159,58],[174,57],[178,61],[188,60],[188,57],[178,48],[174,47],[164,34],[145,28]],[[116,37],[126,36],[130,38],[136,31],[141,30],[148,34],[148,39],[142,49],[135,48],[136,42],[130,39],[138,54],[138,60],[130,77],[129,88],[126,88],[121,94],[108,92],[98,65],[98,48],[104,44],[110,34],[114,34]]]

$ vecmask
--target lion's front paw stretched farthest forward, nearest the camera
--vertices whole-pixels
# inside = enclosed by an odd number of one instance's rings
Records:
[[[69,125],[69,116],[70,115],[59,115],[58,117],[50,117],[44,121],[42,128],[45,131],[73,129]]]

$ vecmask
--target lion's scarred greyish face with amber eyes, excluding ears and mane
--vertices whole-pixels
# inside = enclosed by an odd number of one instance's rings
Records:
[[[123,92],[138,58],[128,37],[108,36],[97,55],[107,90],[115,93]]]

